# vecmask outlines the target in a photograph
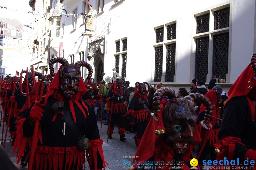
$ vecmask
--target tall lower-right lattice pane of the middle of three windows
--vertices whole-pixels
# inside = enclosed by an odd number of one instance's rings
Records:
[[[176,43],[166,45],[166,76],[165,82],[173,82],[175,75],[175,51]]]

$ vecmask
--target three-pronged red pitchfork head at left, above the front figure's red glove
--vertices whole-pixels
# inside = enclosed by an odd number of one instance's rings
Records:
[[[32,65],[32,75],[33,75],[33,87],[35,89],[35,84],[36,84],[36,79],[35,79],[35,75],[34,75],[34,66]],[[28,86],[28,67],[27,67],[27,70],[26,70],[26,90],[27,90],[27,93],[23,93],[22,92],[22,74],[24,73],[24,71],[22,70],[21,73],[20,73],[20,93],[22,95],[26,95],[27,96],[27,100],[28,100],[28,106],[30,107],[31,106],[31,101],[30,101],[30,98],[29,96],[31,94],[33,94],[35,92],[35,90],[32,90],[31,92],[29,92],[29,86]],[[25,81],[25,80],[24,80]]]

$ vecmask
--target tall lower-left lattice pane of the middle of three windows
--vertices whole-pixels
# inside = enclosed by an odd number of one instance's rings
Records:
[[[161,82],[163,73],[163,46],[155,47],[155,75],[154,82]]]

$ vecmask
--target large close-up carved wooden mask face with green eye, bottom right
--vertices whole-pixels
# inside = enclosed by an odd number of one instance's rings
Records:
[[[165,142],[174,151],[174,156],[187,153],[191,144],[195,144],[193,137],[196,125],[194,102],[183,98],[173,98],[166,103],[163,111]]]

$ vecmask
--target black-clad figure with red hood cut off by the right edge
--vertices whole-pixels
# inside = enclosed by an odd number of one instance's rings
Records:
[[[217,160],[256,160],[256,53],[228,91],[218,133]]]

